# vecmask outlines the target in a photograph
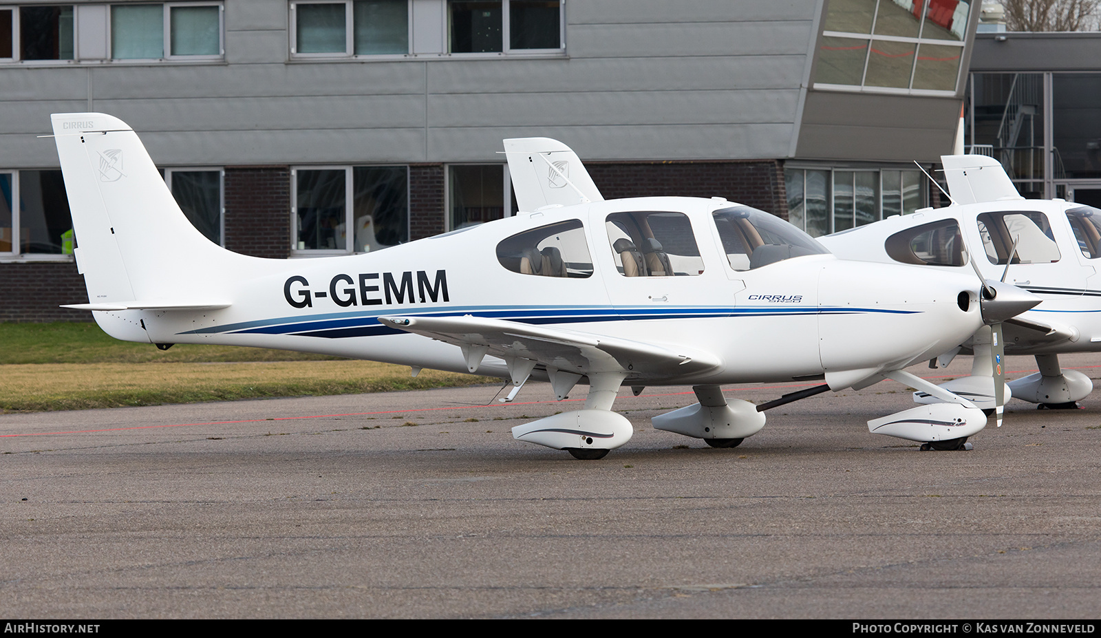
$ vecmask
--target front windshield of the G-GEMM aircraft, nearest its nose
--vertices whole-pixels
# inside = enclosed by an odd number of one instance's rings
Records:
[[[711,215],[734,270],[753,270],[804,255],[829,255],[809,235],[764,210],[732,206]]]

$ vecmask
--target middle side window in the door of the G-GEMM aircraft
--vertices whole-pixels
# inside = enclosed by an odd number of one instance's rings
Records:
[[[604,221],[615,269],[623,277],[695,275],[704,272],[691,223],[684,213],[613,213]]]

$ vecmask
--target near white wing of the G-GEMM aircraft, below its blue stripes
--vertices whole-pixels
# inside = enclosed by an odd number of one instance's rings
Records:
[[[505,361],[525,359],[578,375],[625,372],[631,378],[684,376],[721,365],[707,353],[671,350],[630,339],[471,315],[380,316],[379,321],[461,347],[471,370],[486,355]]]

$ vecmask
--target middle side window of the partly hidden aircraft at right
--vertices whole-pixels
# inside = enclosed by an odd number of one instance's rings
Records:
[[[1059,246],[1051,235],[1047,216],[1038,210],[1012,210],[979,215],[979,235],[986,259],[1005,264],[1017,249],[1013,263],[1054,263],[1059,261]]]

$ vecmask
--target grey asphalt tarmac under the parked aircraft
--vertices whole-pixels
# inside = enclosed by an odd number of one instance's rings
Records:
[[[1062,365],[1101,376],[1101,356]],[[624,388],[634,437],[576,461],[510,428],[584,388],[498,390],[0,415],[0,615],[1101,616],[1101,393],[1012,401],[974,450],[919,452],[868,432],[913,407],[884,381],[711,450],[650,424],[689,388]]]

